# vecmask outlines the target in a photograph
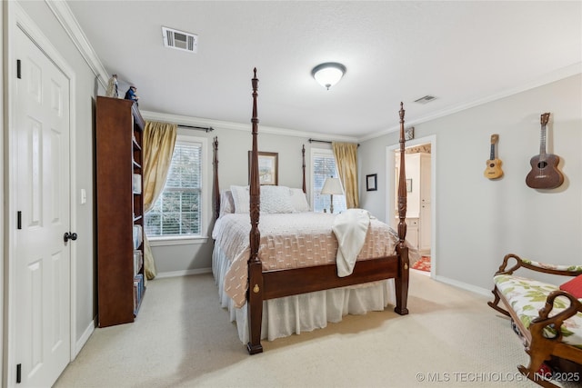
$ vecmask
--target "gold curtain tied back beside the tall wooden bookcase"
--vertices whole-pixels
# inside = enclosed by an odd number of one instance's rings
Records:
[[[166,185],[176,144],[176,124],[147,121],[144,129],[144,214],[156,203]],[[147,279],[156,277],[156,262],[144,234],[144,270]]]

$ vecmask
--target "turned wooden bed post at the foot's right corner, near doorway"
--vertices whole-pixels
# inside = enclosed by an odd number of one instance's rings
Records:
[[[394,311],[406,315],[406,300],[408,299],[408,248],[406,247],[406,165],[404,137],[404,104],[400,103],[400,168],[398,174],[398,278],[396,279],[396,307]]]

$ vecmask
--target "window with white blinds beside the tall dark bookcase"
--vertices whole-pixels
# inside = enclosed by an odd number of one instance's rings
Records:
[[[164,191],[146,214],[148,237],[203,234],[203,172],[206,139],[178,134]]]

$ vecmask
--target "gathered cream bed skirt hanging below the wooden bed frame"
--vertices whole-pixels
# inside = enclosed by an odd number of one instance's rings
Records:
[[[240,340],[247,343],[246,304],[242,308],[236,308],[224,292],[224,275],[229,265],[229,260],[215,244],[212,272],[218,286],[220,304],[228,310],[230,321],[236,322]],[[382,311],[388,304],[395,303],[394,279],[271,299],[263,302],[261,339],[273,341],[293,333],[311,332],[326,327],[328,322],[340,322],[348,313]]]

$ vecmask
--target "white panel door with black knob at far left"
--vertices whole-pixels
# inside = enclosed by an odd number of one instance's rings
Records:
[[[69,81],[16,30],[15,363],[19,386],[51,386],[70,361]]]

